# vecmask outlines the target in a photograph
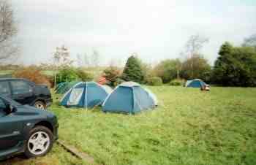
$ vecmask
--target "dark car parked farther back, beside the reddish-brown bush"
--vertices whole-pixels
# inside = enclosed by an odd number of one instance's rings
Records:
[[[36,85],[26,79],[0,78],[0,94],[39,109],[46,109],[52,104],[50,90],[46,85]]]

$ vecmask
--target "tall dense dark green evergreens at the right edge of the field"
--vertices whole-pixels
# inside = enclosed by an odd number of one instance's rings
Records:
[[[233,47],[225,42],[214,64],[213,76],[219,85],[256,86],[255,48]]]

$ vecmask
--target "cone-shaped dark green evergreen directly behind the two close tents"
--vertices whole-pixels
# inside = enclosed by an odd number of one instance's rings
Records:
[[[128,58],[127,64],[124,67],[124,72],[121,75],[121,78],[126,81],[135,81],[143,83],[145,80],[145,75],[143,73],[140,60],[132,55]]]

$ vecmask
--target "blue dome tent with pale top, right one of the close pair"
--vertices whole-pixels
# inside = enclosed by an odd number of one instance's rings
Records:
[[[157,97],[136,82],[118,85],[102,104],[103,112],[135,114],[157,106]]]

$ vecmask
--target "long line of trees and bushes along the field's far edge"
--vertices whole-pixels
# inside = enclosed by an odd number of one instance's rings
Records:
[[[117,66],[75,67],[71,65],[41,64],[39,66],[0,66],[1,74],[10,71],[42,71],[50,77],[50,82],[72,80],[99,80],[104,77],[109,85],[116,86],[124,81],[141,84],[162,85],[163,83],[181,84],[184,80],[202,79],[205,82],[222,86],[256,86],[256,44],[235,47],[225,42],[219,49],[219,56],[214,66],[210,66],[200,53],[192,53],[185,60],[166,59],[152,66],[144,63],[138,55],[131,55],[124,68]],[[23,75],[23,72],[21,75]],[[36,72],[37,73],[37,72]],[[31,75],[31,73],[29,74]],[[54,78],[53,76],[57,76]],[[8,75],[7,75],[8,76]],[[36,76],[35,76],[36,77]],[[46,78],[45,78],[46,79]],[[56,80],[54,80],[56,79]]]

